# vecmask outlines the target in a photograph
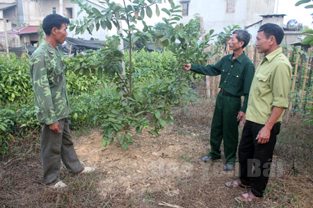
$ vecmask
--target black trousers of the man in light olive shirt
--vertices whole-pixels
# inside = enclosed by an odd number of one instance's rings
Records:
[[[262,197],[266,189],[280,123],[273,126],[268,143],[258,144],[257,134],[263,127],[263,124],[246,121],[238,151],[241,183],[250,185],[252,193],[257,197]]]

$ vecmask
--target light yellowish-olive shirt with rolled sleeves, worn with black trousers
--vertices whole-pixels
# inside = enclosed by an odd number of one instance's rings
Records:
[[[262,59],[255,71],[250,89],[246,113],[248,121],[266,124],[273,106],[288,107],[291,73],[292,67],[282,53],[282,48],[276,49]],[[277,122],[282,121],[282,115]]]

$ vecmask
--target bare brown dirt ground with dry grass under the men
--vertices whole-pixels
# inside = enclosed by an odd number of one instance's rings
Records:
[[[160,137],[144,130],[143,135],[134,134],[134,146],[127,150],[118,142],[103,147],[99,130],[74,133],[81,162],[96,171],[71,176],[63,167],[61,180],[69,185],[63,191],[42,184],[39,146],[31,145],[24,154],[0,163],[0,207],[311,207],[312,174],[292,175],[277,155],[264,199],[235,202],[234,197],[248,191],[225,187],[238,176],[238,164],[234,171],[223,171],[223,156],[217,162],[200,161],[209,151],[212,106],[208,101],[203,107],[204,118],[197,107],[188,114],[176,110],[177,121]]]

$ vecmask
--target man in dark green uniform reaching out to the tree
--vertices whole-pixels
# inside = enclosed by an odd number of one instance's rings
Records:
[[[236,30],[228,40],[230,55],[225,55],[216,64],[202,66],[186,64],[182,68],[209,76],[220,76],[220,92],[216,98],[216,106],[211,124],[211,152],[202,157],[202,161],[220,159],[220,144],[224,139],[225,166],[224,171],[232,171],[236,161],[238,146],[238,125],[244,118],[248,103],[248,94],[255,67],[243,51],[250,42],[247,31]],[[245,96],[241,106],[241,96]]]

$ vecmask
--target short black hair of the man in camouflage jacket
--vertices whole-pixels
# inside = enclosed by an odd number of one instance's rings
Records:
[[[50,35],[52,28],[60,29],[63,23],[70,24],[70,20],[58,14],[51,14],[42,21],[42,28],[46,35]]]

